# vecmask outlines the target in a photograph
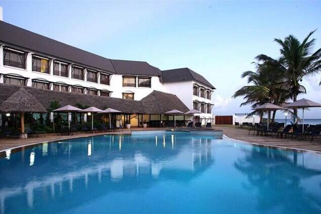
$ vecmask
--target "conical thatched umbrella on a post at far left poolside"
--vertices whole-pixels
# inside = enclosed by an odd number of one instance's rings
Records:
[[[21,133],[24,134],[24,113],[47,113],[45,107],[23,87],[12,94],[0,105],[0,111],[6,113],[20,113]]]

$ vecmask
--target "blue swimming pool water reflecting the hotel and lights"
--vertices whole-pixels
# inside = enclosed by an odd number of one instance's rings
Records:
[[[182,132],[0,158],[0,213],[321,213],[321,155]]]

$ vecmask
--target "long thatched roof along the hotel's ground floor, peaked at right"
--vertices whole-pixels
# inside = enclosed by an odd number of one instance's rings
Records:
[[[49,109],[51,101],[58,100],[61,106],[75,106],[77,103],[81,103],[82,105],[95,106],[99,109],[117,109],[126,114],[164,114],[173,109],[182,112],[189,111],[187,106],[176,95],[160,91],[153,91],[138,101],[8,84],[0,84],[0,104],[19,90],[19,88],[24,88],[25,91],[34,96],[46,109]]]

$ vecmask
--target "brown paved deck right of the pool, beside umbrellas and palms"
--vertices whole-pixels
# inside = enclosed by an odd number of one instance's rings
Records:
[[[296,140],[296,139],[280,139],[271,136],[257,136],[248,134],[248,130],[235,128],[234,126],[224,126],[216,125],[215,129],[223,130],[223,134],[226,136],[238,139],[246,142],[253,142],[255,144],[267,145],[267,146],[277,146],[286,147],[291,149],[301,149],[301,150],[311,150],[316,152],[321,152],[321,140],[317,139],[310,142],[310,140]]]

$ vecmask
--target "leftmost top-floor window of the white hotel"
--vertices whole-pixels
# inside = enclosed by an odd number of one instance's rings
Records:
[[[26,68],[26,53],[4,48],[4,65]]]

